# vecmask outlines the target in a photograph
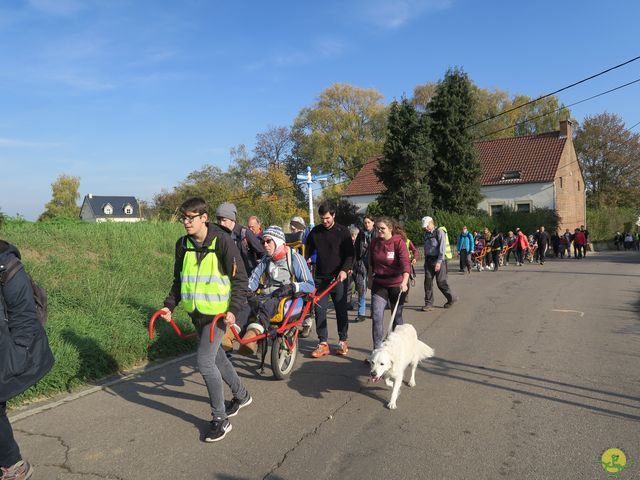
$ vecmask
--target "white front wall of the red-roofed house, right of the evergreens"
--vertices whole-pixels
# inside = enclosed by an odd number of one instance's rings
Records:
[[[515,208],[517,203],[530,202],[533,208],[555,208],[553,182],[519,185],[491,185],[480,189],[483,200],[478,208],[489,212],[490,205],[502,204]]]

